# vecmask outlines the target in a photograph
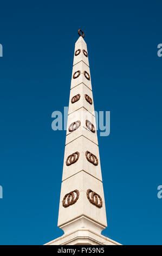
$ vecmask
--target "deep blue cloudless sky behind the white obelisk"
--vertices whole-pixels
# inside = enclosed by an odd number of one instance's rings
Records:
[[[1,1],[0,244],[41,245],[57,228],[74,44],[86,36],[108,227],[126,245],[162,244],[161,1]]]

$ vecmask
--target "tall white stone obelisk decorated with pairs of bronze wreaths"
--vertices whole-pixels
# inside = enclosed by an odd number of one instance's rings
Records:
[[[46,245],[119,245],[101,235],[107,227],[88,51],[75,43],[58,227],[64,235]]]

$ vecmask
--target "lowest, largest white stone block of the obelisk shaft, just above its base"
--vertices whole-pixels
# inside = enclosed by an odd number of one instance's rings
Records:
[[[102,198],[101,208],[89,202],[87,198],[88,189],[100,195]],[[77,199],[75,204],[64,208],[62,205],[64,196],[74,190],[79,191],[79,199]],[[58,226],[60,227],[64,223],[72,221],[82,215],[105,227],[107,226],[102,182],[83,171],[62,182]]]

